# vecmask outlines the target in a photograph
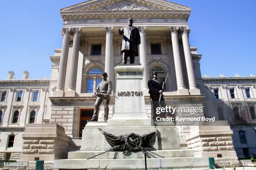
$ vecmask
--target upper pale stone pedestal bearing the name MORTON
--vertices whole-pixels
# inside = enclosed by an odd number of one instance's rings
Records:
[[[141,65],[129,64],[115,67],[115,113],[108,126],[136,126],[152,124],[146,114]]]

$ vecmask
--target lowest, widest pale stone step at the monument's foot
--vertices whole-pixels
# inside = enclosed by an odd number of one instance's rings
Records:
[[[144,159],[67,159],[54,160],[56,169],[143,169]],[[200,168],[208,170],[208,158],[149,158],[147,168]]]

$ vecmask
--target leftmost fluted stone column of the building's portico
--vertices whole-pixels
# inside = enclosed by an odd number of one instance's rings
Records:
[[[59,62],[59,77],[57,80],[56,91],[64,90],[71,28],[63,28],[62,31],[64,32],[64,35],[61,49],[61,57]]]

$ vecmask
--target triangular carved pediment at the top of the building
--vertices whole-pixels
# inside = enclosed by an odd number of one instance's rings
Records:
[[[191,10],[166,0],[88,0],[61,9],[61,12],[112,10]]]

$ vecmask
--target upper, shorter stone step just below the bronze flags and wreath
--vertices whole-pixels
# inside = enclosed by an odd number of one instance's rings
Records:
[[[156,150],[148,152],[147,158],[161,158],[153,153],[161,155],[164,158],[175,158],[175,157],[194,157],[193,150]],[[101,155],[98,155],[103,153]],[[77,151],[77,152],[69,152],[68,159],[88,159],[95,155],[96,159],[140,159],[144,158],[144,154],[142,152],[128,152],[127,154],[123,154],[123,152],[107,152],[104,151]]]

